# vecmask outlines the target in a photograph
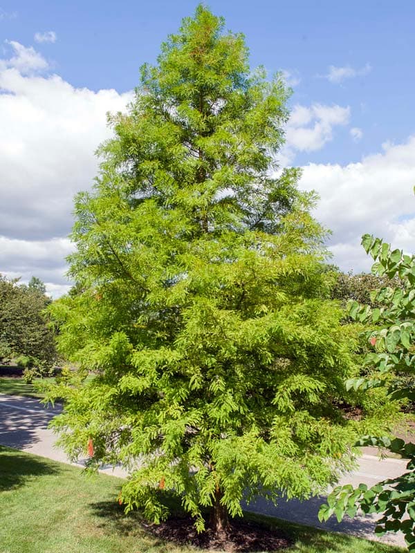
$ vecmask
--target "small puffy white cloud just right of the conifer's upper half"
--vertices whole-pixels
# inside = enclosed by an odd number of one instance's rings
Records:
[[[348,124],[349,118],[349,107],[297,105],[286,128],[286,148],[307,152],[320,150],[333,139],[333,127]]]

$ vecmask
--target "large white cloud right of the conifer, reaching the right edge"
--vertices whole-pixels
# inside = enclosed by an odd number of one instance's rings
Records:
[[[415,136],[405,144],[349,165],[307,165],[300,187],[320,194],[315,215],[333,231],[334,261],[344,270],[369,270],[362,234],[415,252]]]

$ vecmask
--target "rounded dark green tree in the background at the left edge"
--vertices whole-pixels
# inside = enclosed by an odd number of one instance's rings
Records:
[[[50,298],[40,290],[39,279],[36,285],[30,282],[19,285],[0,275],[0,356],[22,355],[26,364],[35,358],[33,364],[42,371],[56,358],[55,337],[44,315]]]

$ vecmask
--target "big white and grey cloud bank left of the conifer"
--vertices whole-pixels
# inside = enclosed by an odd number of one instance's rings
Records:
[[[124,111],[132,93],[74,88],[48,75],[33,48],[9,44],[12,57],[0,59],[0,272],[35,274],[59,294],[73,196],[91,187],[94,152],[111,135],[107,112]]]

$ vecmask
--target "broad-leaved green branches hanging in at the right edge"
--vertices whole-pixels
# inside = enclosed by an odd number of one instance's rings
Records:
[[[372,271],[380,278],[394,279],[398,285],[383,286],[371,292],[372,306],[357,301],[349,303],[349,315],[362,323],[371,324],[366,339],[371,350],[365,366],[372,367],[376,376],[349,379],[347,387],[355,390],[388,388],[390,400],[415,399],[415,257],[393,250],[380,238],[365,234],[362,245],[374,259]],[[376,307],[374,307],[374,305]],[[360,485],[335,488],[322,507],[320,520],[332,514],[341,520],[345,513],[353,516],[357,507],[365,513],[379,513],[376,533],[402,531],[410,551],[415,551],[415,444],[403,440],[368,435],[358,445],[377,445],[409,458],[408,471],[398,478],[385,480],[374,487]]]

